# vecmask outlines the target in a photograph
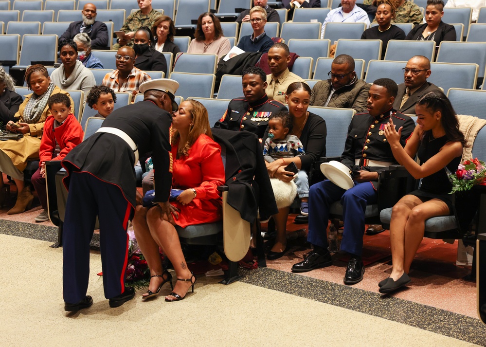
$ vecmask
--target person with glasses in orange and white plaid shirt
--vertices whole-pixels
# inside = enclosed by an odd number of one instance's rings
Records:
[[[116,52],[115,59],[116,70],[107,73],[101,84],[114,91],[128,91],[133,96],[137,95],[140,85],[151,78],[134,66],[135,51],[131,47],[124,46]]]

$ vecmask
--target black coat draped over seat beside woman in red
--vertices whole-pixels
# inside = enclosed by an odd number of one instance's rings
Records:
[[[258,209],[262,220],[276,214],[277,204],[256,135],[248,131],[211,130],[215,141],[226,149],[225,179],[230,206],[250,223],[255,221]]]

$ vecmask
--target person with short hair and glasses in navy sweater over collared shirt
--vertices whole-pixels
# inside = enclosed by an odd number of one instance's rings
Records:
[[[273,45],[273,41],[265,33],[267,24],[267,12],[263,7],[255,6],[250,10],[250,22],[252,23],[253,34],[240,38],[238,48],[245,52],[267,53]]]

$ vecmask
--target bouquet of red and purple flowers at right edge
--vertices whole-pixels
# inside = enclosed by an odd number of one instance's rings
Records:
[[[478,160],[478,158],[466,160],[459,164],[455,173],[449,174],[449,180],[452,183],[450,194],[470,190],[473,185],[484,183],[485,178],[485,162]]]

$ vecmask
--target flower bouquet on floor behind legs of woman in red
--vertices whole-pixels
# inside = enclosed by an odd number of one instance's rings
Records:
[[[138,247],[135,233],[128,230],[128,262],[126,264],[125,283],[137,289],[145,288],[150,283],[150,270],[147,261]],[[163,254],[161,253],[162,263]]]

